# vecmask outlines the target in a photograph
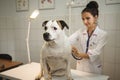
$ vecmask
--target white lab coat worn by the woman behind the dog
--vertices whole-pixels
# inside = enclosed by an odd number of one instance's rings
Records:
[[[106,37],[107,33],[97,26],[89,41],[89,49],[87,54],[90,59],[77,60],[77,70],[101,73],[102,64],[100,61],[100,53],[106,44]],[[88,34],[86,29],[78,30],[69,37],[70,43],[74,46],[78,46],[80,52],[82,53],[85,53],[86,51],[87,39]]]

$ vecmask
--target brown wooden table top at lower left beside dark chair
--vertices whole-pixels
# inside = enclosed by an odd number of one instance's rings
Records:
[[[21,65],[21,62],[16,62],[16,61],[9,61],[9,60],[4,60],[4,59],[0,59],[0,64],[3,64],[4,67],[0,67],[0,72],[5,71],[5,70],[9,70],[11,68],[15,68],[19,65]]]

